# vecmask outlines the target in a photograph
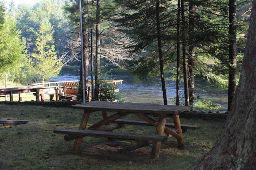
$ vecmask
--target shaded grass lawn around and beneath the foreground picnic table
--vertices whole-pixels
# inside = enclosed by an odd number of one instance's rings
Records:
[[[160,158],[151,161],[152,143],[138,147],[137,141],[130,140],[84,137],[80,151],[72,152],[74,141],[64,141],[63,135],[53,130],[78,129],[82,114],[82,110],[68,107],[0,104],[0,119],[29,120],[19,125],[0,124],[0,170],[183,170],[214,146],[224,123],[181,118],[182,124],[200,125],[201,129],[183,134],[184,150],[177,148],[174,137],[169,138],[162,143]],[[100,118],[101,114],[92,113],[89,123]],[[172,117],[168,122],[173,122]],[[154,130],[136,125],[122,129],[145,134],[154,134]]]

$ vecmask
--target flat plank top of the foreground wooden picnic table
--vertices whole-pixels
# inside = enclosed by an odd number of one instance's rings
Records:
[[[160,105],[160,104],[140,104],[140,103],[121,103],[91,101],[83,104],[71,106],[75,109],[88,109],[93,111],[118,111],[130,113],[154,113],[154,114],[178,114],[189,111],[190,106]]]

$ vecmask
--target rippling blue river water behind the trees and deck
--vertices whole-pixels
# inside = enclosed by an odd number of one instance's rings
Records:
[[[172,98],[176,97],[176,82],[168,80],[170,75],[165,75],[166,78],[166,95],[168,104],[175,104]],[[90,79],[90,77],[89,77]],[[162,84],[159,78],[152,78],[148,80],[138,80],[135,75],[124,73],[124,72],[113,72],[110,73],[108,79],[111,80],[124,80],[122,84],[118,85],[120,97],[126,102],[137,102],[137,103],[151,103],[151,104],[164,104]],[[57,77],[51,78],[51,81],[68,81],[68,80],[79,80],[78,71],[61,71]],[[200,86],[209,86],[207,82],[196,80],[196,84]],[[198,85],[196,85],[198,88]],[[184,91],[183,82],[180,83],[180,96]],[[228,105],[228,91],[220,90],[216,87],[210,87],[207,92],[197,91],[197,96],[206,100],[211,100],[213,104],[219,105],[218,111],[227,111]],[[200,110],[199,108],[195,108]],[[208,111],[208,110],[204,110]]]

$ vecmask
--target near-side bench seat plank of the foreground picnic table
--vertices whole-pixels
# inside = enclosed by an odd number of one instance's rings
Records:
[[[57,129],[54,133],[71,134],[71,135],[82,135],[82,136],[96,136],[96,137],[108,137],[117,139],[131,139],[131,140],[146,140],[146,141],[166,141],[168,137],[159,135],[142,135],[136,133],[119,133],[119,132],[108,132],[108,131],[91,131],[81,129]]]

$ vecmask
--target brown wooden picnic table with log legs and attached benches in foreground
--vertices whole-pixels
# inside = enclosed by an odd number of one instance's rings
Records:
[[[189,111],[189,106],[171,106],[171,105],[159,105],[159,104],[138,104],[138,103],[120,103],[120,102],[103,102],[103,101],[91,101],[83,104],[76,104],[71,106],[75,109],[83,109],[84,114],[80,123],[79,129],[58,129],[54,130],[54,133],[63,133],[65,140],[76,139],[74,143],[74,151],[78,151],[82,141],[82,137],[90,136],[102,136],[119,139],[135,139],[135,140],[150,140],[154,141],[152,145],[152,151],[150,158],[159,158],[159,152],[162,141],[166,141],[168,136],[173,136],[178,141],[178,148],[184,149],[184,140],[182,137],[182,127],[180,124],[179,113]],[[86,129],[88,118],[91,113],[95,111],[102,111],[103,119],[94,125]],[[116,112],[114,115],[108,116],[108,111]],[[99,112],[96,112],[99,113]],[[129,114],[134,114],[142,121],[124,120],[120,119]],[[157,115],[158,121],[155,121],[149,115]],[[175,131],[169,129],[166,125],[167,115],[173,115]],[[110,124],[112,123],[112,124]],[[113,129],[123,127],[124,123],[136,124],[136,125],[153,125],[156,127],[154,135],[141,135],[132,133],[117,133],[112,132]],[[141,124],[140,124],[141,123]],[[170,124],[170,123],[169,123]]]

